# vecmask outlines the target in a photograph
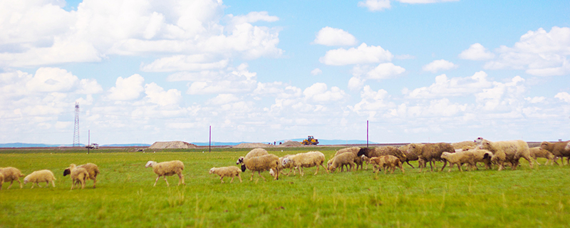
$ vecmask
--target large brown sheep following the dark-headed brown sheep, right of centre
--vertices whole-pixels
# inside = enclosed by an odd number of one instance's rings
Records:
[[[427,162],[430,162],[430,168],[433,171],[432,162],[435,161],[443,161],[443,167],[441,170],[445,168],[447,165],[447,160],[441,158],[442,152],[455,152],[453,146],[447,142],[438,142],[438,143],[412,143],[408,147],[408,152],[413,152],[418,155],[419,160],[424,160],[425,163],[423,166],[427,167]],[[435,163],[434,163],[435,165]],[[423,170],[423,166],[420,165],[420,172]]]

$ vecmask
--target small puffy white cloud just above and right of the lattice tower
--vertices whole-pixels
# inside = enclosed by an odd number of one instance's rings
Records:
[[[110,100],[134,100],[145,90],[142,83],[145,78],[138,74],[133,74],[128,78],[119,77],[115,82],[115,87],[109,89],[107,98]]]

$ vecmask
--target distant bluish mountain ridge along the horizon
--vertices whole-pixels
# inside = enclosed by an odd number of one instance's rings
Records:
[[[302,142],[305,138],[296,138],[291,139],[291,141]],[[278,140],[275,141],[276,145],[279,145],[279,142],[283,143],[289,140]],[[194,145],[199,146],[206,146],[209,145],[209,142],[190,142]],[[239,145],[241,143],[251,143],[251,142],[212,142],[212,145]],[[262,143],[271,143],[274,142],[262,142]],[[369,142],[371,144],[375,144],[376,142]],[[366,140],[318,140],[318,145],[344,145],[344,144],[366,144]],[[44,143],[24,143],[24,142],[11,142],[11,143],[0,143],[0,148],[21,148],[21,147],[71,147],[71,144],[44,144]],[[81,144],[81,147],[85,147],[85,144]],[[145,143],[125,143],[125,144],[108,144],[108,145],[99,145],[100,147],[150,147],[150,144]]]

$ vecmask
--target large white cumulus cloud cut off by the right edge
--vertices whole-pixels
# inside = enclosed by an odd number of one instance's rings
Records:
[[[564,76],[570,73],[570,28],[552,27],[528,31],[514,46],[501,46],[499,57],[485,63],[487,69],[512,68],[534,76]]]

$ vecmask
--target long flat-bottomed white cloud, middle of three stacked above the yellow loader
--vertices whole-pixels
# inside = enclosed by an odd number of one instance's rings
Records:
[[[318,61],[326,65],[343,66],[361,63],[383,63],[392,61],[393,54],[380,46],[367,46],[362,43],[358,48],[338,48],[327,51]]]

